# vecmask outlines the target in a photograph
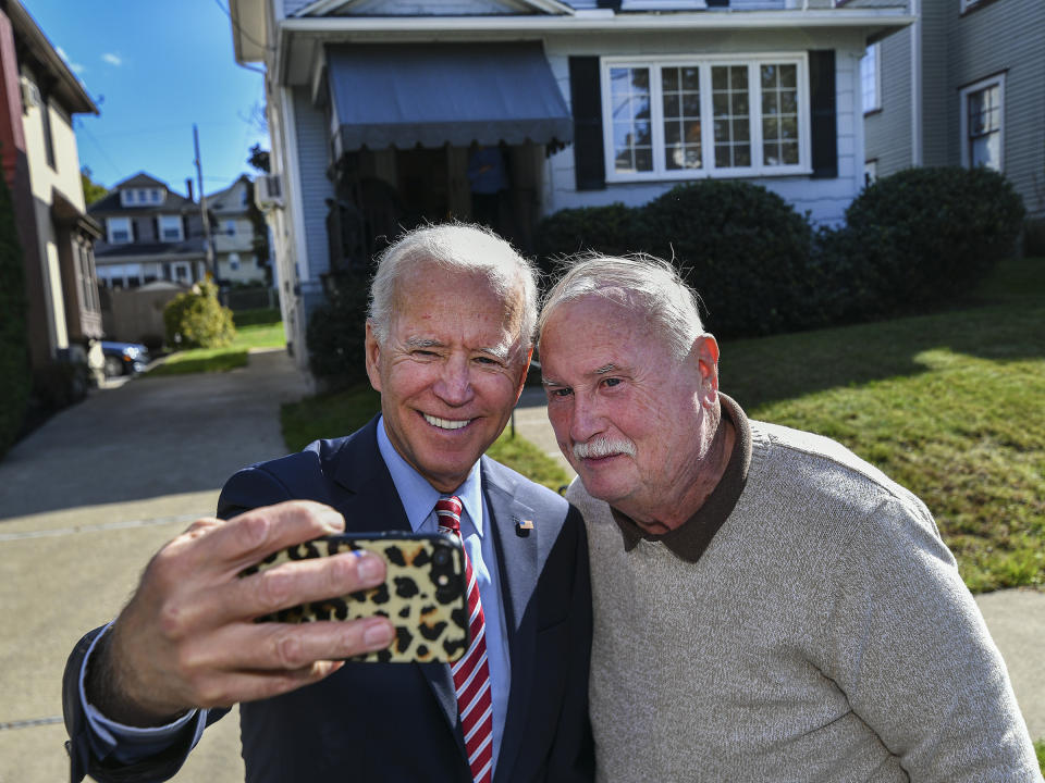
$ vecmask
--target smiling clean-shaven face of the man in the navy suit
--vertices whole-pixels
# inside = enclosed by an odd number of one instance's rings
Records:
[[[420,263],[396,286],[384,345],[367,324],[389,439],[440,492],[460,485],[512,415],[530,357],[521,308],[482,275]]]

